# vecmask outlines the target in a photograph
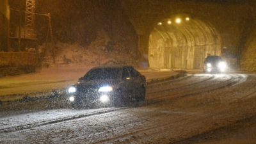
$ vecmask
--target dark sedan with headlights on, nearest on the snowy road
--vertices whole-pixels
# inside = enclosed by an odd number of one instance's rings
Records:
[[[145,100],[146,78],[129,65],[95,67],[68,88],[72,107]]]

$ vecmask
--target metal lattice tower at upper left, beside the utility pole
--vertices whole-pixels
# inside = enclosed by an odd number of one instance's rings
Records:
[[[35,0],[27,0],[24,24],[24,37],[35,38]]]

